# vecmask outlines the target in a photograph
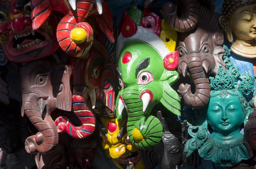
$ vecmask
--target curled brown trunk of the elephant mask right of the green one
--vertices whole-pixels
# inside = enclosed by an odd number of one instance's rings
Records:
[[[194,109],[200,109],[209,102],[210,98],[210,84],[209,79],[206,77],[204,66],[202,66],[202,58],[197,55],[190,55],[188,61],[180,61],[179,72],[183,76],[188,72],[192,82],[195,84],[195,93],[192,93],[189,84],[180,84],[179,92],[183,96],[184,103]]]

